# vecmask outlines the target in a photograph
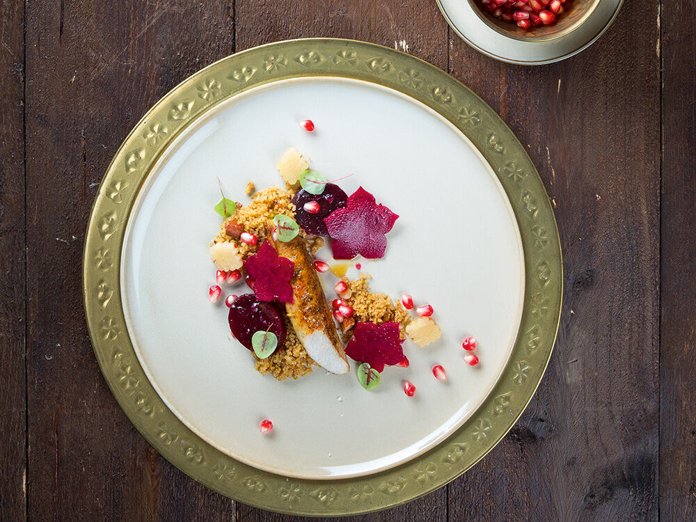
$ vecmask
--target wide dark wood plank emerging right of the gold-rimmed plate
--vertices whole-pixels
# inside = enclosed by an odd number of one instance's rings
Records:
[[[452,484],[452,520],[658,518],[658,38],[649,0],[553,65],[498,63],[452,35],[452,72],[539,168],[565,271],[546,376],[503,443]]]

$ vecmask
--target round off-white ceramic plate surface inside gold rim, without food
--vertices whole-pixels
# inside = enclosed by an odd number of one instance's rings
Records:
[[[311,118],[313,133],[298,122]],[[216,177],[242,203],[247,180],[280,185],[275,164],[296,147],[340,185],[358,186],[400,215],[382,260],[363,261],[372,290],[432,303],[443,337],[404,343],[409,368],[388,367],[367,392],[351,373],[316,367],[278,382],[254,370],[231,338],[227,309],[207,289],[220,218]],[[350,276],[355,276],[351,271]],[[395,90],[310,77],[254,88],[187,127],[150,173],[121,258],[129,335],[150,381],[193,432],[231,457],[281,475],[341,478],[407,461],[454,432],[487,397],[521,318],[521,239],[512,207],[480,153],[447,120]],[[326,276],[326,287],[335,278]],[[230,293],[246,292],[239,285]],[[470,367],[465,335],[479,341]],[[448,381],[434,379],[439,363]],[[416,395],[402,391],[404,379]],[[258,432],[274,422],[269,436]]]

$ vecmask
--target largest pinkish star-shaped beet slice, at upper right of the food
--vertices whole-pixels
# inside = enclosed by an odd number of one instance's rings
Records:
[[[353,259],[358,254],[366,259],[383,257],[387,248],[385,234],[398,217],[384,205],[377,205],[374,196],[360,187],[348,198],[345,208],[324,218],[333,239],[333,258]]]

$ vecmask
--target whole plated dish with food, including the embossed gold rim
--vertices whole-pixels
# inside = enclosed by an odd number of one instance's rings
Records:
[[[104,178],[85,255],[95,353],[134,424],[283,512],[381,509],[473,465],[560,309],[553,213],[509,129],[445,73],[349,40],[251,49],[167,95]]]

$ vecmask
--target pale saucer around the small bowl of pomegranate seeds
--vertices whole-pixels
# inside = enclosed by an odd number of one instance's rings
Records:
[[[580,25],[573,31],[553,37],[510,38],[484,20],[478,0],[437,0],[448,24],[471,47],[496,60],[521,65],[563,60],[589,47],[614,21],[622,2],[599,1],[594,10],[580,17]]]

